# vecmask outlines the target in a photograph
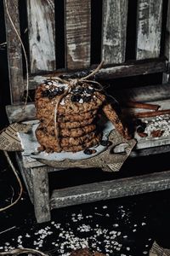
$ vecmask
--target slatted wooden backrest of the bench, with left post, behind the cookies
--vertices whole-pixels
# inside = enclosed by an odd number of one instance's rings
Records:
[[[26,47],[30,84],[35,84],[32,77],[37,74],[88,68],[101,60],[105,67],[114,66],[106,69],[108,78],[166,69],[164,57],[170,56],[168,0],[3,1],[14,103],[20,102],[25,88],[25,66],[7,8]],[[132,60],[137,66],[128,64]]]

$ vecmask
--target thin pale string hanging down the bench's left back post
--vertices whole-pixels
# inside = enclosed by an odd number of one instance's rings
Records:
[[[16,27],[14,26],[14,21],[12,20],[10,14],[8,12],[7,0],[4,0],[4,3],[5,3],[5,9],[6,9],[6,12],[7,12],[7,15],[8,15],[8,20],[10,21],[11,25],[13,26],[14,32],[16,33],[17,37],[20,40],[20,44],[21,44],[21,47],[23,49],[23,53],[24,53],[24,57],[25,57],[25,61],[26,61],[26,100],[25,100],[25,106],[24,106],[26,108],[26,104],[27,104],[27,100],[28,100],[28,90],[29,90],[28,59],[27,59],[27,55],[26,55],[26,49],[25,49],[25,46],[22,42],[22,39],[20,38],[19,32],[17,31]]]

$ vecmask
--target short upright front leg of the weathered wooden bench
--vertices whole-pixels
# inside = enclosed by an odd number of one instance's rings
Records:
[[[47,222],[51,219],[47,167],[32,168],[31,174],[33,203],[37,223]]]

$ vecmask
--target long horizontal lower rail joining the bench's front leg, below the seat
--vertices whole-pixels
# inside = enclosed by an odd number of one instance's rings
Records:
[[[54,190],[51,208],[170,189],[170,171]]]

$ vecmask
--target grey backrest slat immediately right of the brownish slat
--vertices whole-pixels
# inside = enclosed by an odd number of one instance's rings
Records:
[[[127,0],[103,1],[101,59],[105,64],[125,61]]]

